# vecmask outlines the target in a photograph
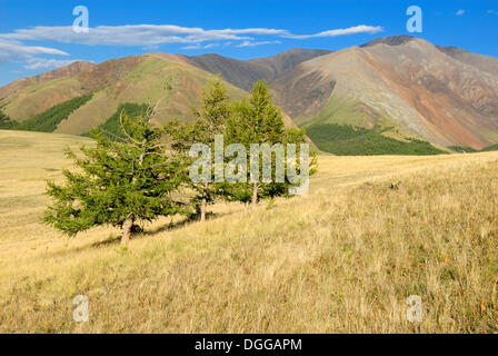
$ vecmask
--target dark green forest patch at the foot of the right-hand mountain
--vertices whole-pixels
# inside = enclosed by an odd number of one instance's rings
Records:
[[[444,154],[442,150],[426,141],[408,139],[404,142],[386,137],[381,135],[382,130],[379,128],[368,130],[327,123],[311,126],[307,134],[319,149],[337,156],[428,156]]]

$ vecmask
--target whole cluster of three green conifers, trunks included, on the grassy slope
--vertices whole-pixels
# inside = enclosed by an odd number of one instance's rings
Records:
[[[52,202],[44,222],[68,236],[112,225],[122,228],[121,241],[127,243],[146,221],[161,216],[205,221],[207,207],[216,201],[256,207],[263,199],[291,197],[298,188],[307,189],[316,171],[315,151],[302,146],[303,130],[285,127],[265,81],[255,85],[250,97],[232,101],[217,77],[192,109],[195,122],[173,119],[162,125],[151,122],[153,107],[121,106],[100,129],[91,131],[96,145],[80,147],[83,158],[66,150],[76,169],[63,171],[63,185],[48,182]],[[255,144],[267,146],[270,152],[253,159]],[[276,145],[287,148],[273,157],[270,147]],[[236,150],[228,154],[230,148]],[[219,157],[219,149],[227,152],[227,159]],[[279,170],[286,176],[278,177]]]

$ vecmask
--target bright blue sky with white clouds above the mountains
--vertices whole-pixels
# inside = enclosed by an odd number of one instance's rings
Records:
[[[77,6],[88,8],[88,33],[72,30]],[[422,33],[406,29],[409,6],[422,9]],[[0,86],[73,60],[150,51],[250,59],[398,34],[498,57],[497,33],[496,0],[0,0]]]

